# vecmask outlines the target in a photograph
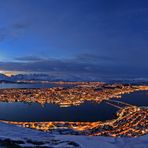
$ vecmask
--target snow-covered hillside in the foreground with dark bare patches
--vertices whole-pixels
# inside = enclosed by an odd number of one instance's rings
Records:
[[[137,138],[109,138],[51,135],[49,133],[0,123],[0,147],[52,148],[148,148],[148,135]]]

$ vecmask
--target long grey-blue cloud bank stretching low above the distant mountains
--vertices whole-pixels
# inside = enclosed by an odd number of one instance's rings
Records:
[[[88,57],[88,58],[87,58]],[[95,61],[95,62],[94,62]],[[98,61],[98,62],[97,62]],[[101,61],[106,61],[103,63]],[[108,61],[108,64],[107,64]],[[148,74],[145,67],[131,65],[109,64],[116,60],[112,57],[95,55],[79,55],[71,59],[44,59],[40,57],[21,57],[11,62],[0,62],[5,71],[35,72],[35,73],[63,73],[66,75],[83,75],[88,77],[100,76],[143,76]]]

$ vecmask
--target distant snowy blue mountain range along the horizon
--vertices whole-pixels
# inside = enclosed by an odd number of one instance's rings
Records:
[[[7,76],[0,74],[0,82],[15,83],[17,81],[104,81],[109,83],[144,83],[148,78],[101,78],[91,75],[66,75],[66,74],[18,74]]]

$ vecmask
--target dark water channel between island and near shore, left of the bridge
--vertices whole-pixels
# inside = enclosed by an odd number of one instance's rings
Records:
[[[0,119],[13,121],[105,121],[112,119],[115,111],[105,103],[93,102],[67,108],[55,104],[42,107],[38,103],[0,103]]]

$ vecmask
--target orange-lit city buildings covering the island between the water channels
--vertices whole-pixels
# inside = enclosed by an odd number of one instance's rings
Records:
[[[0,101],[54,103],[61,107],[80,105],[85,101],[100,103],[110,98],[120,98],[122,94],[138,90],[148,90],[148,86],[122,84],[82,83],[73,87],[53,87],[39,89],[0,89]]]

